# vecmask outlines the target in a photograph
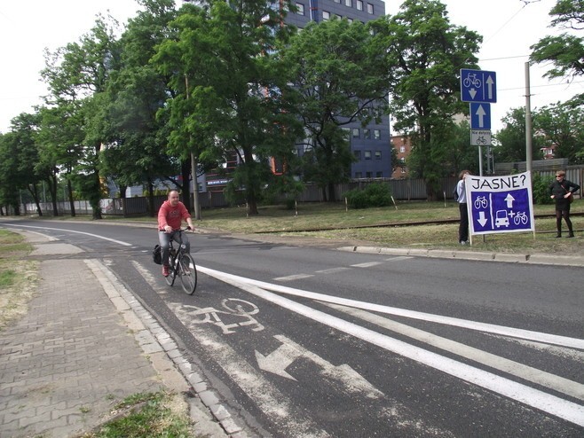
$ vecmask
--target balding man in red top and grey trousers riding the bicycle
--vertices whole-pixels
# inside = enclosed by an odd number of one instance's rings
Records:
[[[162,203],[158,210],[158,239],[162,249],[162,275],[169,276],[169,247],[170,240],[176,240],[175,235],[180,232],[180,225],[183,219],[188,223],[189,228],[194,231],[193,220],[191,215],[183,204],[178,199],[178,192],[171,190],[168,199]],[[182,242],[186,246],[186,252],[191,249],[191,244],[188,238],[182,236]]]

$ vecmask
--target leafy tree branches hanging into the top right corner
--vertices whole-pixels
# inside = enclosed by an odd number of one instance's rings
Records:
[[[531,61],[551,63],[545,74],[549,78],[575,78],[584,75],[584,2],[581,0],[557,0],[549,15],[551,27],[571,29],[572,33],[545,36],[531,46]],[[579,34],[576,34],[579,33]]]

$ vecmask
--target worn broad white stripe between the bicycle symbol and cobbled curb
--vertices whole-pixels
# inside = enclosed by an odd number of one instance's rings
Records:
[[[169,302],[169,308],[190,332],[201,342],[201,345],[209,352],[213,360],[229,375],[241,389],[249,395],[249,399],[269,417],[274,418],[288,436],[297,437],[328,437],[328,433],[320,426],[306,419],[302,411],[296,411],[296,407],[290,402],[288,396],[265,379],[262,374],[256,372],[241,355],[227,345],[213,332],[206,331],[201,325],[193,323],[190,312],[181,304]]]

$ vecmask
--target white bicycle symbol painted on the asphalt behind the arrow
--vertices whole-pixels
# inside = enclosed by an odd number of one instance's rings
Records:
[[[189,312],[193,316],[195,324],[211,324],[220,327],[224,334],[234,333],[237,327],[251,326],[254,332],[264,330],[264,325],[257,322],[255,317],[259,312],[253,302],[240,300],[238,298],[226,298],[221,301],[221,307],[225,310],[218,310],[212,307],[198,308],[192,305],[185,305],[184,309],[192,309]],[[222,319],[223,318],[223,319]],[[224,322],[225,319],[225,322]],[[232,322],[243,319],[241,322]]]

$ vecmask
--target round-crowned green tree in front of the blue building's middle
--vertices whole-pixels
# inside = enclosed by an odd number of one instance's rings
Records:
[[[380,122],[387,111],[382,42],[360,21],[334,19],[309,23],[281,50],[291,85],[284,95],[307,134],[303,176],[324,199],[334,201],[334,184],[350,176],[354,157],[343,126]]]

